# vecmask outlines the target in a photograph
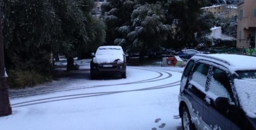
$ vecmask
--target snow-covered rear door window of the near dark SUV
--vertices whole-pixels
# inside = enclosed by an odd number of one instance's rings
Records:
[[[202,91],[205,89],[206,81],[207,81],[207,73],[209,71],[209,65],[199,63],[195,66],[195,69],[192,74],[192,81],[198,84],[198,88]]]

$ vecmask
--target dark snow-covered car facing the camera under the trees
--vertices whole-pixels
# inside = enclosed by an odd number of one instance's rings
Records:
[[[126,57],[121,46],[100,46],[92,53],[90,76],[94,79],[100,74],[121,74],[126,78]]]

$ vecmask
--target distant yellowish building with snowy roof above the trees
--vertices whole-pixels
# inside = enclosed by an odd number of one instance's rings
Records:
[[[238,15],[237,7],[234,5],[218,5],[201,8],[204,12],[211,12],[216,17],[233,17]]]

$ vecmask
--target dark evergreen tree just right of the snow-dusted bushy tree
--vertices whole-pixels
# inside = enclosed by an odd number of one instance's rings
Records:
[[[173,19],[173,48],[194,48],[198,45],[196,38],[211,33],[214,17],[202,14],[200,8],[206,0],[173,0],[168,4],[168,14]],[[207,22],[208,21],[208,22]]]

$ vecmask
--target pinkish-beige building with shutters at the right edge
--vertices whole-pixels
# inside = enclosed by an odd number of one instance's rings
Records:
[[[255,48],[256,1],[238,2],[237,48]]]

